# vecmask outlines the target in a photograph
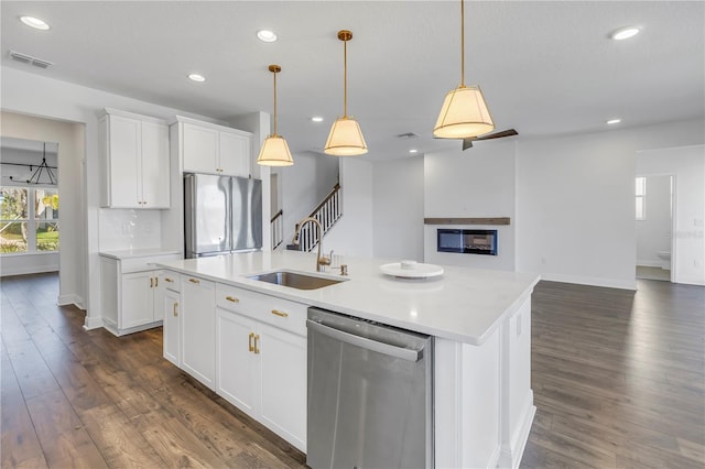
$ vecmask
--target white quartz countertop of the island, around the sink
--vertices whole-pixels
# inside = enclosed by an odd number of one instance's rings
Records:
[[[226,283],[284,299],[390,326],[471,345],[485,339],[533,291],[538,274],[444,266],[430,279],[386,275],[379,266],[399,260],[336,257],[348,265],[323,274],[345,282],[318,290],[296,290],[248,279],[274,270],[318,275],[314,253],[249,252],[215,258],[158,262],[163,269]]]

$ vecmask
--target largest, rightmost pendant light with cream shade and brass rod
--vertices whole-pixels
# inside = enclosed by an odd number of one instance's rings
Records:
[[[433,128],[440,139],[467,139],[495,129],[479,86],[465,86],[465,1],[460,0],[460,86],[448,91]]]

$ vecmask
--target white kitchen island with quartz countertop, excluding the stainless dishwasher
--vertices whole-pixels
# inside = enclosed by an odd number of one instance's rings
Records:
[[[445,266],[437,277],[400,279],[380,272],[389,260],[339,262],[348,275],[316,273],[314,254],[292,251],[159,263],[180,275],[165,304],[165,357],[305,451],[308,306],[426,334],[434,337],[435,466],[518,467],[535,412],[539,276]],[[296,290],[249,279],[281,270],[343,282]]]

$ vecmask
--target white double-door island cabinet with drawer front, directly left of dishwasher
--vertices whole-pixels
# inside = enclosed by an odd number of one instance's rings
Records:
[[[306,306],[216,284],[216,392],[306,449]]]

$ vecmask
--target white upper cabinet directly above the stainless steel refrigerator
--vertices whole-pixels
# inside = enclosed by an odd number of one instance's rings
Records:
[[[226,176],[251,174],[252,134],[177,117],[183,171]]]

